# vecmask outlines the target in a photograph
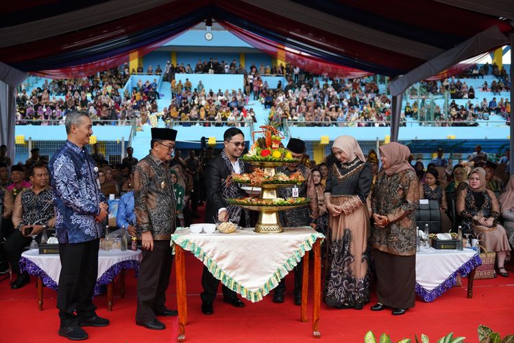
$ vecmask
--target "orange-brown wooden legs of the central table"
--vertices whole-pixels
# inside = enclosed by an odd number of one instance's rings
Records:
[[[314,254],[314,292],[313,292],[313,318],[312,329],[314,338],[321,338],[319,332],[319,309],[321,307],[321,239],[317,239],[313,244]],[[309,270],[309,251],[303,257],[303,279],[302,279],[302,306],[300,307],[300,320],[307,322],[307,301],[308,301],[308,270]],[[177,279],[177,305],[178,305],[178,342],[186,339],[187,324],[187,300],[186,300],[186,261],[184,259],[184,249],[175,244],[175,272]]]

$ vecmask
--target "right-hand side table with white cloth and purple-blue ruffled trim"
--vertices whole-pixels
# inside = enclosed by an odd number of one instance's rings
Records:
[[[417,252],[416,293],[426,302],[434,301],[455,285],[457,274],[467,274],[467,298],[472,298],[475,268],[481,264],[478,252],[467,248]]]

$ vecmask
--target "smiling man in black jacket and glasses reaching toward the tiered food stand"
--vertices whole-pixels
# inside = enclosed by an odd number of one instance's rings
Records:
[[[239,206],[229,205],[227,198],[243,198],[245,192],[239,188],[235,182],[225,185],[225,180],[232,172],[243,174],[248,171],[248,166],[239,161],[238,158],[245,150],[245,136],[238,128],[230,128],[223,134],[223,151],[212,158],[206,167],[206,189],[208,189],[206,219],[208,223],[232,222],[240,226],[249,226],[249,213],[247,210]],[[212,303],[215,300],[219,280],[216,279],[204,266],[204,272],[201,275],[201,285],[204,292],[201,296],[201,312],[203,314],[212,314]],[[222,287],[223,301],[230,303],[234,307],[245,307],[245,303],[239,300],[236,292],[228,289],[225,285]]]

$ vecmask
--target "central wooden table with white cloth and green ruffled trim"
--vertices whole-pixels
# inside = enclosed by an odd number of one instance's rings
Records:
[[[283,233],[255,233],[254,228],[242,228],[234,233],[191,233],[188,228],[176,230],[177,303],[179,335],[185,340],[187,322],[186,278],[184,250],[193,253],[223,285],[256,303],[277,287],[299,261],[304,261],[302,279],[301,320],[307,321],[308,255],[314,252],[313,335],[319,338],[321,304],[320,244],[324,236],[306,226],[284,228]]]

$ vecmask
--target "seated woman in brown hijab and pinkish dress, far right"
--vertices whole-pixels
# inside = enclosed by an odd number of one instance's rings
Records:
[[[488,251],[496,252],[498,274],[508,277],[505,259],[511,255],[511,247],[503,226],[498,224],[500,204],[493,191],[486,189],[486,171],[475,168],[469,174],[469,187],[458,194],[456,209],[461,216],[464,233],[473,233],[482,240]]]

